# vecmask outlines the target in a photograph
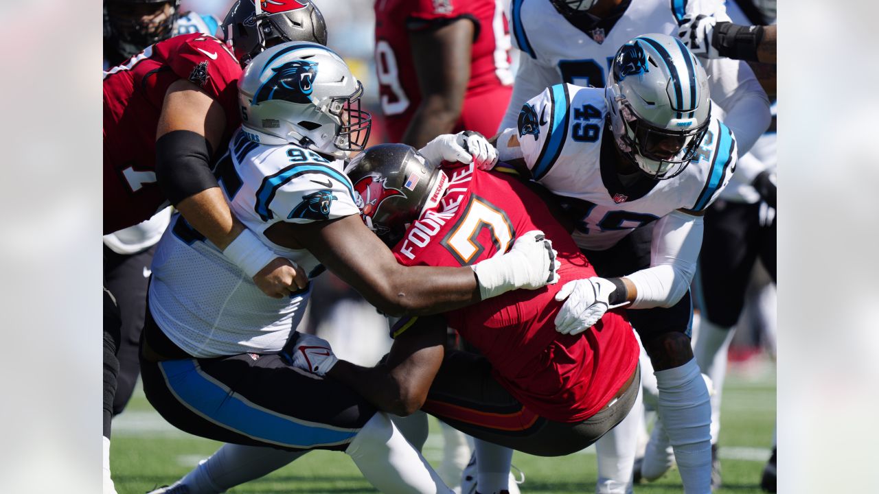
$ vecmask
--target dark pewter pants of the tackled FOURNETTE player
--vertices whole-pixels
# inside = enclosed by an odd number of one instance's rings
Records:
[[[476,439],[538,456],[562,456],[588,447],[613,429],[635,404],[641,374],[613,405],[580,422],[542,418],[519,403],[491,375],[485,357],[447,352],[421,410]]]

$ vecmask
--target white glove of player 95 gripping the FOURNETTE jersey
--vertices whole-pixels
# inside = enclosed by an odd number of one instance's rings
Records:
[[[519,236],[509,252],[471,266],[479,280],[479,294],[485,300],[515,288],[534,290],[557,283],[557,254],[540,230]]]

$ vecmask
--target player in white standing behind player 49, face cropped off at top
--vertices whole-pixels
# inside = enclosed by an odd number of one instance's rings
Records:
[[[513,46],[519,48],[519,68],[513,95],[499,130],[515,127],[521,105],[546,87],[558,83],[604,87],[618,47],[641,33],[677,35],[687,15],[725,18],[721,0],[512,0],[510,23]],[[728,59],[705,63],[716,114],[730,127],[739,155],[752,147],[769,122],[765,92],[745,62]],[[648,224],[639,235],[650,236]],[[636,328],[637,329],[637,328]],[[642,342],[643,343],[643,342]],[[650,362],[643,360],[643,381],[655,396]],[[650,396],[652,398],[652,396]],[[645,403],[648,401],[645,396]],[[655,400],[650,400],[653,402]],[[706,405],[707,406],[707,405]],[[672,412],[677,413],[677,412]],[[637,413],[629,414],[596,445],[599,490],[621,491],[628,478],[628,457],[635,454],[643,431]],[[660,416],[660,420],[666,420]],[[673,421],[679,422],[678,420]],[[602,487],[600,484],[604,484]]]

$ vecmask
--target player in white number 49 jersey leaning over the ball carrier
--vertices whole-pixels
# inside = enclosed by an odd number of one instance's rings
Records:
[[[563,287],[558,331],[576,334],[607,309],[630,309],[685,491],[708,492],[711,410],[690,347],[689,285],[701,214],[735,170],[737,142],[716,117],[701,63],[676,38],[638,36],[614,55],[607,89],[553,85],[522,105],[517,127],[497,142],[501,161],[561,200],[601,276]],[[627,489],[620,480],[605,487]]]

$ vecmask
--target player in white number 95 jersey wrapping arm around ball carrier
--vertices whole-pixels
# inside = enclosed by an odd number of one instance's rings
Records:
[[[284,43],[254,58],[239,83],[243,127],[215,171],[248,229],[312,275],[326,266],[392,315],[438,313],[557,280],[555,252],[540,232],[472,269],[398,265],[360,220],[342,172],[348,151],[363,149],[369,134],[362,91],[338,54],[316,43]],[[458,157],[461,142],[440,140],[426,151]],[[235,256],[229,248],[216,249],[179,215],[158,244],[142,377],[163,418],[186,432],[239,445],[345,451],[382,491],[448,492],[387,415],[352,389],[292,365],[307,360],[323,374],[335,364],[319,348],[287,348],[296,340],[290,337],[310,284],[289,297],[265,297],[229,261]],[[306,336],[297,344],[301,338]],[[196,469],[159,491],[222,490]]]

